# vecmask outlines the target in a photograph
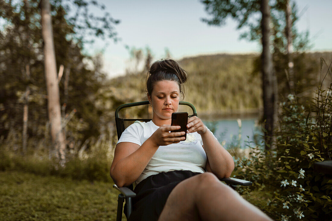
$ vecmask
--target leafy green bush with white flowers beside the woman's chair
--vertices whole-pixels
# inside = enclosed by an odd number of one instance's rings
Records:
[[[276,149],[264,152],[248,142],[250,157],[235,159],[235,176],[253,182],[239,192],[274,219],[332,219],[332,179],[313,167],[331,160],[331,95],[331,87],[318,89],[311,111],[289,95],[280,104]]]

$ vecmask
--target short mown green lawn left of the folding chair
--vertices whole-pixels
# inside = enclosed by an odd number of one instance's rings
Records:
[[[0,184],[0,220],[116,220],[113,183],[5,171]]]

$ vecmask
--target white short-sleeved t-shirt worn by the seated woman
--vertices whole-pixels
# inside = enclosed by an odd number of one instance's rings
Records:
[[[141,146],[158,128],[152,120],[146,123],[136,121],[124,130],[118,143],[131,142]],[[207,130],[210,131],[208,128]],[[207,156],[202,145],[201,135],[194,132],[188,133],[187,139],[180,143],[160,146],[135,184],[161,172],[189,170],[204,173]]]

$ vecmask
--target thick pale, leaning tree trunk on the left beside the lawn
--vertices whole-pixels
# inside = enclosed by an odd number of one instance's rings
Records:
[[[52,18],[49,0],[41,0],[41,31],[44,41],[45,79],[47,88],[48,118],[51,124],[52,143],[60,165],[65,162],[65,139],[61,126],[59,86],[53,41]]]

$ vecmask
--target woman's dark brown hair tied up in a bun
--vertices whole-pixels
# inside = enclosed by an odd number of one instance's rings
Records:
[[[146,92],[151,95],[154,85],[158,81],[175,81],[178,83],[180,93],[184,96],[183,84],[187,81],[187,72],[173,59],[155,61],[146,75]]]

